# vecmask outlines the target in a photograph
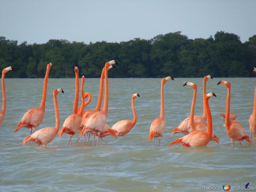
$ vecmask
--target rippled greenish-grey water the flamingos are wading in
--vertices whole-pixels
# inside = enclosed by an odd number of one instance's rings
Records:
[[[193,89],[183,87],[186,81],[198,86],[196,115],[202,115],[202,79],[175,78],[164,85],[166,128],[161,146],[147,142],[149,126],[160,114],[161,79],[109,79],[108,125],[132,119],[131,96],[135,99],[137,124],[125,137],[104,140],[107,145],[92,148],[83,140],[66,147],[68,135],[58,136],[46,148],[35,143],[20,145],[29,129],[13,133],[23,114],[40,105],[43,79],[6,79],[7,110],[0,127],[0,191],[202,191],[203,186],[232,186],[255,183],[255,140],[242,142],[240,148],[231,141],[223,127],[227,88],[217,85],[222,78],[210,79],[207,92],[217,98],[209,100],[213,131],[220,138],[220,146],[212,141],[207,147],[185,148],[168,144],[180,138],[170,131],[190,114]],[[224,78],[231,83],[231,112],[249,132],[249,116],[253,109],[255,78]],[[60,126],[73,112],[75,79],[49,79],[45,116],[36,129],[55,126],[52,91],[58,94]],[[85,79],[85,92],[92,93],[87,109],[96,106],[99,79]],[[80,104],[80,102],[79,102]],[[156,139],[156,143],[158,140]],[[222,190],[221,190],[222,191]]]

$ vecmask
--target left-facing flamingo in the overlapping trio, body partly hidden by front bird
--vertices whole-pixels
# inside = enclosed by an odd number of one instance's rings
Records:
[[[191,82],[186,82],[183,86],[185,86],[185,85],[189,85],[190,87],[192,87],[194,89],[194,95],[193,95],[193,99],[192,99],[190,118],[189,118],[189,123],[190,123],[191,128],[188,132],[189,133],[196,132],[196,131],[207,132],[207,125],[205,123],[195,122],[195,118],[194,118],[197,85],[195,83],[191,83]],[[204,99],[205,99],[205,97],[204,97]],[[204,101],[204,106],[205,106],[205,101]],[[217,144],[219,145],[220,140],[213,132],[212,132],[212,140],[216,141]]]

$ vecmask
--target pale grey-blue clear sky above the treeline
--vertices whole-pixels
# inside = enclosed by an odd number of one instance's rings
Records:
[[[256,1],[0,0],[0,36],[18,44],[119,43],[176,31],[189,39],[225,31],[244,43],[256,34]]]

